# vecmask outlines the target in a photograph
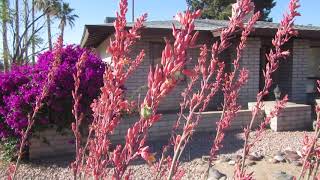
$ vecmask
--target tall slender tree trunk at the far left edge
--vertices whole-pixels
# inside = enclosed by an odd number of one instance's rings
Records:
[[[8,48],[8,36],[7,36],[7,22],[9,18],[8,14],[8,0],[2,0],[2,47],[3,47],[3,63],[4,71],[9,70],[9,48]]]

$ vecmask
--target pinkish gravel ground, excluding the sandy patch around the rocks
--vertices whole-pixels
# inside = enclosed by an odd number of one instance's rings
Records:
[[[285,149],[299,150],[304,133],[312,134],[312,132],[272,132],[268,130],[262,141],[260,141],[253,149],[265,156],[271,156],[277,151]],[[212,134],[202,133],[194,135],[192,142],[186,147],[182,157],[182,168],[186,174],[183,179],[199,179],[204,171],[204,163],[202,156],[208,154],[212,139]],[[164,142],[153,142],[150,146],[154,149],[160,149]],[[230,132],[225,137],[224,147],[220,154],[224,156],[235,156],[241,154],[243,145],[243,133]],[[159,154],[159,153],[158,153]],[[20,166],[18,179],[72,179],[68,165],[72,161],[72,156],[47,158],[41,160],[33,160],[23,163]],[[153,179],[154,173],[151,173],[147,164],[138,161],[130,166],[133,179]],[[5,178],[5,165],[0,167],[0,179]]]

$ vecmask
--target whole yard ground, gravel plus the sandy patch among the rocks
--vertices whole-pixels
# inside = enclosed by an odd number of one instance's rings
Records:
[[[264,155],[264,159],[257,161],[255,165],[248,167],[248,172],[254,172],[255,179],[258,180],[275,180],[273,174],[275,172],[284,171],[289,175],[297,176],[301,167],[289,163],[273,164],[269,159],[278,151],[292,149],[300,150],[302,147],[302,139],[304,134],[311,135],[313,132],[272,132],[268,130],[264,134],[261,142],[258,142],[252,149],[252,152],[258,152]],[[213,139],[212,133],[204,133],[195,135],[190,144],[186,147],[181,157],[182,168],[185,171],[183,180],[200,179],[206,168],[206,163],[202,160],[203,156],[207,156],[210,151]],[[159,149],[166,141],[151,142],[149,146],[152,151],[159,153]],[[236,156],[242,153],[243,133],[230,132],[224,140],[224,147],[220,151],[220,155],[226,157]],[[73,155],[66,157],[51,157],[38,160],[32,160],[21,164],[18,179],[36,179],[36,180],[65,180],[73,179],[69,169],[70,163],[73,161]],[[216,169],[225,173],[228,177],[232,177],[234,167],[226,162],[216,163]],[[154,179],[154,172],[150,170],[148,165],[143,161],[133,163],[130,167],[133,176],[132,179],[144,180]],[[0,167],[0,179],[6,179],[5,166]]]

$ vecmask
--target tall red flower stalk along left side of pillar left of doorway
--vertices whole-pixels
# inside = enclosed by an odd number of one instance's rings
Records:
[[[240,12],[237,14],[249,13],[252,10],[252,8],[254,8],[250,6],[250,1],[238,1],[237,3],[238,3],[238,5],[236,6],[237,8],[233,10],[235,12],[238,12],[238,11]],[[243,6],[246,8],[244,8]],[[247,9],[247,11],[243,12],[242,11],[243,9]],[[232,120],[234,120],[236,116],[236,113],[241,108],[240,105],[238,105],[237,100],[239,97],[239,91],[241,87],[244,84],[246,84],[248,80],[249,72],[245,68],[242,68],[241,70],[239,70],[240,68],[239,61],[241,59],[243,49],[246,47],[248,36],[250,32],[253,30],[253,26],[256,23],[256,21],[259,19],[259,17],[260,17],[259,12],[254,14],[254,16],[248,22],[248,24],[244,27],[241,33],[240,43],[237,47],[236,58],[232,63],[233,71],[231,73],[225,73],[223,86],[222,86],[222,91],[224,95],[223,112],[220,120],[217,122],[217,133],[216,133],[216,137],[214,139],[212,148],[210,150],[209,166],[211,165],[211,162],[214,159],[216,159],[219,149],[222,148],[222,141],[225,136],[225,130],[230,127]],[[233,20],[231,20],[231,22],[233,22]],[[236,76],[237,73],[238,73],[238,77]]]

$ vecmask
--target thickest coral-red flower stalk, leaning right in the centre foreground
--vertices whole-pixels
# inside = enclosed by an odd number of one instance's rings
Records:
[[[173,26],[173,46],[166,41],[165,49],[162,52],[161,65],[156,65],[153,70],[150,68],[148,75],[148,91],[143,103],[140,106],[140,120],[133,127],[128,129],[126,144],[123,148],[117,146],[114,152],[114,178],[121,178],[127,169],[129,162],[138,156],[144,158],[148,163],[155,161],[154,154],[149,152],[149,147],[145,146],[147,132],[154,123],[160,120],[161,115],[157,114],[160,101],[177,85],[180,81],[181,73],[187,62],[186,50],[195,44],[198,33],[194,30],[194,19],[200,16],[199,11],[185,14],[178,14],[176,19],[181,23],[182,28],[176,29]],[[120,175],[120,176],[116,176]],[[129,174],[126,176],[128,178]]]

